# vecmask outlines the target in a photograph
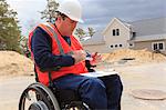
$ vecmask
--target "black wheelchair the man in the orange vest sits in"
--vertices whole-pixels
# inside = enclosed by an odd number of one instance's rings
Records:
[[[73,90],[60,90],[50,81],[49,87],[34,82],[23,90],[19,110],[90,110]]]

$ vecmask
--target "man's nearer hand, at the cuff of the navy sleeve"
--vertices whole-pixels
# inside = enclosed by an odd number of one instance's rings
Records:
[[[76,51],[73,51],[72,57],[75,59],[75,63],[77,63],[77,62],[80,62],[80,61],[85,60],[85,58],[86,58],[86,52],[83,51],[83,50],[76,50]]]

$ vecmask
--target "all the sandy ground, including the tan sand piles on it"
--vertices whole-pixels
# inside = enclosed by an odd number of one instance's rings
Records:
[[[102,54],[98,70],[114,69],[121,76],[124,91],[122,110],[166,110],[164,100],[143,100],[133,90],[151,89],[166,92],[166,57],[146,50],[120,50]],[[0,51],[0,110],[18,110],[22,91],[34,82],[33,62],[13,51]]]

